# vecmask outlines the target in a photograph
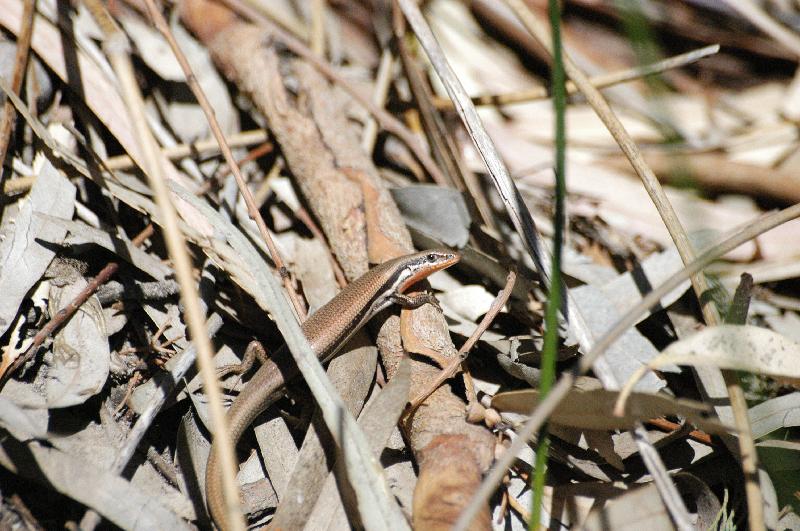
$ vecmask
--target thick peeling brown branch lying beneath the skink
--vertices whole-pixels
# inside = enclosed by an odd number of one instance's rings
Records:
[[[381,186],[370,158],[361,150],[352,124],[346,121],[339,107],[332,105],[339,92],[304,62],[281,61],[269,46],[271,38],[263,28],[230,22],[226,15],[216,14],[221,9],[224,10],[203,0],[187,0],[181,4],[184,23],[201,39],[205,36],[204,42],[218,67],[266,116],[289,168],[347,277],[352,280],[368,269],[367,230],[361,187],[348,179],[342,168],[361,172],[362,183],[369,183],[378,191],[379,230],[397,249],[412,252],[411,240],[397,207]],[[218,21],[223,23],[218,24]],[[210,24],[215,25],[209,27]],[[299,81],[297,90],[301,95],[294,101],[284,86],[287,75]],[[420,314],[415,320],[417,334],[438,346],[440,352],[455,355],[441,313],[429,306],[417,312]],[[396,317],[388,319],[381,327],[378,346],[391,376],[404,356]],[[414,361],[412,396],[414,389],[424,388],[438,373],[439,369],[429,363]],[[415,494],[417,507],[434,509],[445,502],[449,514],[458,514],[479,485],[481,472],[491,462],[492,435],[481,427],[467,424],[464,410],[464,402],[449,386],[443,386],[417,409],[406,425],[412,450],[420,462],[421,484]],[[438,450],[439,443],[435,440],[443,434],[458,441],[447,445],[450,452],[447,462],[452,463],[452,467],[435,466],[436,460],[423,459]],[[464,467],[477,473],[463,474]],[[452,489],[464,495],[455,499],[440,498],[437,486],[442,484],[448,485],[448,492]],[[432,520],[423,518],[418,522],[418,529],[429,528],[429,524],[434,525]],[[474,528],[489,527],[486,507]]]

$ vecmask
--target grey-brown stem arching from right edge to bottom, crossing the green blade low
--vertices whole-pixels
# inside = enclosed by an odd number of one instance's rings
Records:
[[[714,247],[703,252],[695,261],[684,267],[683,270],[675,273],[663,284],[645,295],[636,306],[631,308],[613,327],[597,340],[594,348],[587,352],[571,370],[565,371],[562,374],[550,394],[548,394],[531,412],[524,426],[517,431],[517,439],[512,443],[511,447],[503,452],[497,461],[495,461],[492,469],[483,480],[480,489],[475,493],[475,496],[467,506],[468,509],[464,511],[456,523],[455,528],[467,529],[477,510],[480,509],[482,504],[487,502],[497,488],[497,485],[500,484],[506,470],[514,462],[517,454],[522,451],[528,444],[531,436],[547,421],[561,401],[566,398],[577,378],[586,374],[586,372],[592,368],[592,364],[595,360],[602,356],[603,353],[608,350],[608,347],[614,344],[628,328],[634,326],[649,308],[658,304],[662,297],[677,288],[681,282],[684,282],[698,271],[702,271],[720,256],[724,256],[758,235],[798,217],[800,217],[800,204],[761,217],[741,231],[729,236]]]

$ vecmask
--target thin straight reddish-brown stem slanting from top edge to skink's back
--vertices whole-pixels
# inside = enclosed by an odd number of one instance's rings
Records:
[[[203,89],[200,87],[200,83],[197,82],[197,77],[194,75],[194,72],[192,72],[192,67],[189,65],[186,55],[180,49],[180,46],[178,46],[178,42],[175,40],[175,36],[172,34],[172,31],[170,31],[169,25],[164,19],[164,16],[161,14],[161,11],[158,10],[153,0],[145,0],[145,5],[147,6],[147,12],[150,15],[150,18],[153,20],[153,24],[155,24],[156,28],[167,40],[170,48],[172,49],[172,53],[175,55],[175,58],[181,65],[183,74],[186,76],[186,82],[189,84],[189,87],[192,89],[192,93],[194,94],[195,98],[197,98],[197,102],[203,109],[203,113],[206,115],[206,120],[211,128],[211,132],[216,141],[219,143],[219,149],[222,152],[222,155],[225,157],[225,161],[228,163],[228,167],[230,168],[231,173],[233,173],[233,177],[236,179],[236,184],[239,186],[239,191],[242,193],[242,198],[247,205],[247,212],[250,215],[250,219],[255,221],[256,226],[258,227],[258,232],[261,234],[261,238],[264,240],[264,243],[267,244],[270,257],[275,263],[278,273],[280,273],[281,280],[283,281],[283,287],[289,294],[289,300],[292,302],[292,306],[294,306],[297,316],[300,318],[300,320],[303,320],[305,318],[305,306],[300,302],[300,296],[294,289],[292,280],[289,277],[289,271],[283,264],[283,260],[278,252],[278,248],[275,246],[275,242],[272,241],[272,236],[270,236],[269,231],[267,230],[267,225],[264,223],[264,218],[261,217],[261,214],[258,212],[258,206],[256,205],[255,199],[253,199],[253,194],[250,192],[250,188],[247,187],[247,182],[244,180],[242,171],[239,169],[239,165],[236,163],[236,159],[233,157],[231,148],[228,146],[227,142],[225,142],[225,135],[222,133],[222,129],[219,126],[219,122],[214,114],[214,109],[211,107],[211,103],[209,103],[208,98],[206,98]]]

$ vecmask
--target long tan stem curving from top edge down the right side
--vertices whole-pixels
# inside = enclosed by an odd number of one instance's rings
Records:
[[[530,9],[521,0],[506,0],[522,24],[528,29],[531,35],[539,41],[547,50],[550,50],[548,30],[533,15]],[[600,91],[597,90],[588,80],[586,75],[572,62],[569,55],[564,55],[564,66],[567,75],[572,79],[579,90],[584,94],[589,105],[603,121],[609,133],[614,137],[620,149],[630,161],[636,174],[650,195],[664,225],[675,242],[678,253],[684,264],[694,260],[694,250],[689,243],[689,237],[678,219],[672,204],[669,202],[664,189],[658,182],[653,171],[645,163],[638,146],[630,137],[625,127],[617,118],[611,106],[605,100]],[[714,306],[710,297],[705,297],[708,292],[708,283],[702,273],[694,275],[691,279],[692,287],[697,295],[697,300],[703,312],[703,317],[708,326],[715,326],[720,323],[717,308]],[[750,430],[750,420],[747,416],[747,402],[744,393],[739,386],[736,374],[732,371],[722,371],[730,398],[730,405],[733,411],[734,422],[738,430],[737,441],[739,444],[739,454],[742,460],[742,469],[745,476],[745,492],[747,495],[748,516],[750,528],[754,531],[764,529],[763,504],[761,492],[758,486],[758,460]]]

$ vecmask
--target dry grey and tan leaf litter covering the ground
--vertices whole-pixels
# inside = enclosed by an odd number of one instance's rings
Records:
[[[0,47],[0,63],[17,67],[14,44],[31,20],[22,0],[3,1],[0,25],[11,45]],[[431,66],[436,62],[422,48],[396,41],[398,31],[411,30],[392,25],[391,3],[379,4],[286,0],[254,12],[233,3],[236,12],[223,18],[246,31],[228,34],[234,37],[222,44],[213,42],[214,32],[204,33],[219,23],[211,8],[181,2],[162,9],[235,146],[306,308],[314,311],[366,270],[375,235],[394,248],[411,237],[418,248],[457,247],[461,264],[431,279],[445,315],[436,325],[439,335],[423,330],[433,325],[411,327],[425,348],[454,357],[449,338],[457,346],[473,334],[506,272],[517,271],[505,308],[461,373],[414,412],[404,411],[406,403],[440,368],[416,353],[402,356],[391,324],[380,332],[365,329],[328,368],[407,525],[433,528],[438,517],[449,527],[477,492],[492,455],[510,445],[541,402],[546,282],[526,250],[528,236],[509,222],[471,133],[448,107],[441,72]],[[545,16],[545,2],[529,4]],[[695,251],[795,203],[800,159],[793,120],[800,91],[789,41],[759,29],[747,10],[656,1],[630,12],[622,4],[563,3],[566,49],[590,76],[641,62],[635,52],[641,43],[632,43],[624,29],[628,17],[641,17],[663,57],[722,45],[661,72],[658,86],[634,80],[604,92],[665,184]],[[275,351],[283,343],[282,317],[263,275],[278,278],[276,262],[238,199],[227,164],[204,143],[211,129],[165,38],[138,4],[109,9],[130,40],[217,364],[241,358],[250,339]],[[797,9],[768,3],[766,16],[796,30]],[[519,208],[530,211],[549,243],[552,104],[497,103],[546,88],[549,57],[504,2],[435,0],[424,5],[424,15],[467,93],[490,96],[480,119],[519,189]],[[241,52],[250,34],[269,54],[271,89],[248,77],[253,54]],[[4,120],[14,129],[1,183],[0,429],[6,435],[0,522],[206,528],[199,478],[211,438],[208,402],[183,323],[164,218],[142,174],[148,162],[102,35],[88,4],[37,2],[21,99],[5,107],[10,118]],[[2,75],[5,87],[12,74]],[[279,97],[265,101],[259,91]],[[383,102],[383,114],[366,109],[365,96]],[[365,144],[365,152],[361,136],[373,119],[377,142]],[[585,316],[583,333],[596,340],[682,264],[630,165],[583,98],[573,97],[567,119],[564,271],[569,300]],[[367,175],[360,185],[342,171],[353,168]],[[377,214],[362,197],[379,203]],[[707,327],[686,282],[579,380],[550,416],[544,523],[671,529],[684,520],[665,502],[657,477],[665,472],[692,525],[752,526],[736,444],[742,435],[714,409],[724,405],[715,394],[724,387],[695,378],[702,367],[739,371],[760,457],[762,524],[791,528],[799,520],[798,223],[758,236],[708,270],[715,286],[709,296],[721,314],[739,274],[753,274],[746,324]],[[376,256],[373,250],[369,256]],[[119,269],[95,293],[92,279],[112,262]],[[87,290],[86,302],[70,310]],[[51,336],[34,340],[63,315]],[[564,323],[562,330],[563,371],[586,353],[572,326]],[[628,395],[624,384],[638,374],[645,377]],[[226,378],[228,399],[247,393],[247,381],[247,375]],[[626,396],[626,407],[614,415],[614,403]],[[293,382],[259,417],[255,437],[240,443],[242,506],[251,524],[345,529],[372,521],[373,515],[359,514],[364,509],[347,485],[346,478],[360,476],[349,475],[355,473],[346,470],[350,461],[337,453],[321,416],[308,388]],[[527,524],[533,455],[517,457],[506,481],[495,486],[502,495],[479,507],[476,525]],[[452,511],[437,509],[452,494],[448,489],[462,501]],[[54,492],[63,503],[47,503]]]

